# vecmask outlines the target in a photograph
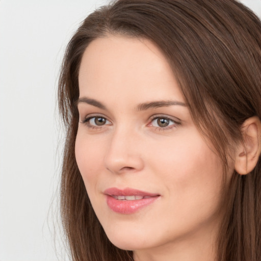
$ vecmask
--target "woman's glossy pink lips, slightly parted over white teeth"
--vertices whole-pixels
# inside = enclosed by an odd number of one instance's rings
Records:
[[[110,188],[103,192],[107,197],[107,204],[114,212],[132,214],[147,206],[160,197],[140,190],[126,188],[123,190]]]

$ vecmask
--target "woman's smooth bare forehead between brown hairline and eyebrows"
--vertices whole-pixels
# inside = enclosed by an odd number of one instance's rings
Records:
[[[146,99],[183,99],[162,51],[143,38],[108,36],[92,41],[82,58],[79,86],[80,97],[114,93],[122,99],[136,93]]]

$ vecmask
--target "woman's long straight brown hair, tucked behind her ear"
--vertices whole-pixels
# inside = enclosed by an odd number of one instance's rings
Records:
[[[90,14],[70,40],[59,81],[66,126],[61,214],[74,261],[133,260],[107,238],[77,168],[74,144],[79,114],[78,72],[88,44],[109,34],[150,39],[165,54],[199,131],[226,172],[231,141],[241,125],[261,118],[261,23],[234,0],[118,0]],[[225,212],[217,260],[261,260],[260,159],[248,175],[234,172],[224,190]],[[225,178],[225,175],[224,175]]]

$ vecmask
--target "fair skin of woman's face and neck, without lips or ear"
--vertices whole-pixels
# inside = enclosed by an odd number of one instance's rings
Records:
[[[215,149],[198,132],[186,105],[137,109],[152,101],[185,103],[161,51],[146,39],[98,38],[84,53],[79,85],[76,161],[111,242],[133,250],[135,261],[214,261],[222,188]],[[95,116],[104,124],[97,126],[95,118],[84,122]],[[169,119],[169,125],[153,117]],[[232,172],[231,159],[228,182]],[[112,187],[160,197],[123,215],[107,205],[103,192]]]

